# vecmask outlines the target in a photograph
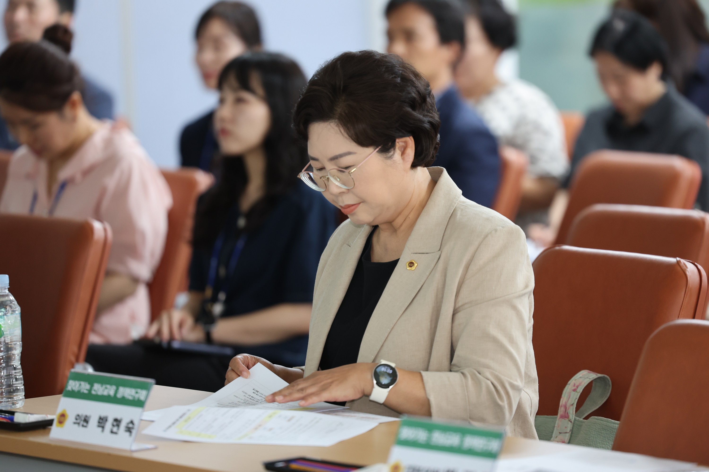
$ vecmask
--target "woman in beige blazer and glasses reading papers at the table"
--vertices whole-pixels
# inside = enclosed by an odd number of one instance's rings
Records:
[[[535,438],[525,236],[428,167],[440,127],[428,83],[391,54],[345,52],[313,76],[294,122],[311,159],[300,177],[349,219],[320,258],[305,367],[239,355],[226,381],[260,362],[290,384],[267,401]]]

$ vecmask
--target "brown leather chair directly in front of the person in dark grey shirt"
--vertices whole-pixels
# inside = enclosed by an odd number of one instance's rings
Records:
[[[594,203],[692,208],[701,178],[698,164],[680,156],[596,151],[579,164],[556,243],[566,243],[571,221]]]

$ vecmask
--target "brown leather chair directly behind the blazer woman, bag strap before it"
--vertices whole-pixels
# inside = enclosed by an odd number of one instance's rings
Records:
[[[554,246],[533,267],[539,415],[557,415],[566,383],[589,369],[613,382],[594,415],[619,420],[647,338],[704,314],[705,272],[683,259]]]

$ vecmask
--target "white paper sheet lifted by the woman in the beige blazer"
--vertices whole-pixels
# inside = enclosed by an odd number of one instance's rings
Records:
[[[345,408],[325,402],[314,403],[306,407],[298,405],[298,402],[295,401],[290,403],[266,403],[267,395],[279,391],[281,388],[285,388],[288,386],[288,382],[281,379],[281,377],[271,372],[262,364],[256,364],[249,372],[251,375],[248,379],[239,377],[204,400],[188,406],[250,407],[267,408],[271,410],[303,411],[341,410]],[[146,411],[140,419],[155,421],[167,410],[169,410],[169,408]]]

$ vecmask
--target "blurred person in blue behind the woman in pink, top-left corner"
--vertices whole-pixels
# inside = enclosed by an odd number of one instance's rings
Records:
[[[8,0],[5,6],[5,34],[11,43],[39,41],[46,28],[60,23],[69,28],[74,17],[75,0]],[[113,119],[113,98],[99,84],[82,77],[84,106],[99,120]],[[19,143],[0,118],[0,149],[17,149]]]

